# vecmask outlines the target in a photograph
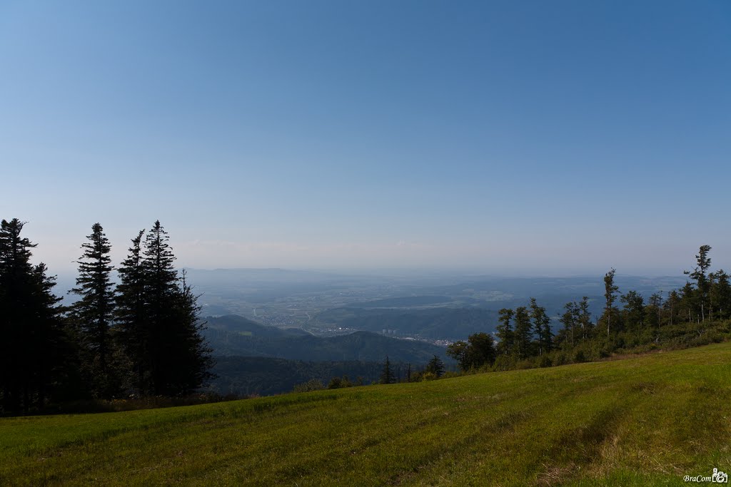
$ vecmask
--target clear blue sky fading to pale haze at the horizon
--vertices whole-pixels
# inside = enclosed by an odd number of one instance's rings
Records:
[[[0,1],[0,218],[178,266],[731,267],[731,2]]]

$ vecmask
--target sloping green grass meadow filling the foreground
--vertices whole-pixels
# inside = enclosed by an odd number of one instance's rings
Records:
[[[0,419],[0,485],[646,486],[731,470],[731,343],[237,402]]]

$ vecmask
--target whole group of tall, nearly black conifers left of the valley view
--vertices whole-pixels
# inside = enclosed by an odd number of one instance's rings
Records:
[[[99,223],[81,245],[77,301],[59,304],[55,277],[31,264],[25,223],[0,223],[0,412],[137,396],[182,396],[212,376],[200,306],[178,275],[156,221],[117,269]],[[113,283],[116,271],[118,283]]]

